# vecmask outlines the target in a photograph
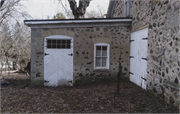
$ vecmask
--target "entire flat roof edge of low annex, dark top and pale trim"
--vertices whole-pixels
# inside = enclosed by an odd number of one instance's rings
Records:
[[[31,28],[130,26],[131,22],[132,18],[24,20],[24,23]]]

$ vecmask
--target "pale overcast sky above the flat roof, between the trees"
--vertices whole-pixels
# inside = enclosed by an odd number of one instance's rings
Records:
[[[76,1],[78,2],[78,0]],[[67,0],[62,0],[62,2],[69,8]],[[23,0],[21,3],[32,16],[29,19],[47,19],[48,16],[52,18],[57,12],[64,12],[64,8],[57,0]],[[98,5],[103,12],[107,12],[109,0],[92,0],[87,11],[95,10],[98,12]]]

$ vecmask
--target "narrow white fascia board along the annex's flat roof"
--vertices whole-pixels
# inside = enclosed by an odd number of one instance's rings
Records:
[[[63,20],[63,21],[26,21],[26,25],[44,25],[44,24],[80,24],[80,23],[113,23],[113,22],[132,22],[132,19],[104,19],[104,20]]]

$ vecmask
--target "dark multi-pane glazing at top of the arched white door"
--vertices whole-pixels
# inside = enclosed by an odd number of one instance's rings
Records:
[[[71,40],[47,39],[48,49],[71,49]]]

